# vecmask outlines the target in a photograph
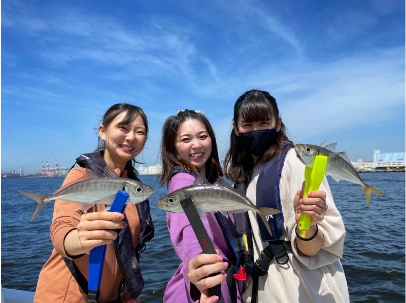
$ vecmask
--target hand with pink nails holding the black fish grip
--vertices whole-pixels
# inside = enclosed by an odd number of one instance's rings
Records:
[[[216,249],[217,253],[218,250]],[[200,302],[217,302],[217,296],[210,295],[210,288],[224,281],[226,274],[221,274],[228,267],[223,257],[215,254],[199,254],[189,262],[188,278],[201,293]],[[211,274],[218,275],[211,276]]]

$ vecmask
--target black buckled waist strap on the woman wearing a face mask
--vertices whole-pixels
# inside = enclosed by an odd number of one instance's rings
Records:
[[[292,244],[290,241],[278,240],[268,243],[269,245],[261,251],[261,255],[255,261],[250,274],[252,277],[252,303],[257,302],[258,278],[268,273],[270,262],[275,258],[278,264],[286,264],[289,261],[288,251],[292,251]]]

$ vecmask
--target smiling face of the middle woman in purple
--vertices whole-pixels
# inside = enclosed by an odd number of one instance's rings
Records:
[[[212,153],[212,139],[200,121],[190,119],[180,125],[176,152],[181,160],[190,163],[199,172],[205,171],[205,164]]]

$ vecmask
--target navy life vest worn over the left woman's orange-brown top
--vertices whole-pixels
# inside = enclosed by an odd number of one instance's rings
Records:
[[[96,153],[83,154],[76,159],[75,164],[90,169],[99,177],[103,176],[104,169],[107,166],[103,158],[103,150]],[[125,169],[127,170],[129,179],[140,181],[133,172],[129,161]],[[124,278],[123,284],[119,289],[118,302],[122,301],[123,294],[126,290],[130,293],[131,298],[135,299],[144,288],[144,279],[139,267],[140,254],[146,248],[145,242],[150,241],[154,237],[154,224],[151,219],[148,199],[136,204],[136,208],[140,217],[140,244],[137,250],[134,250],[128,221],[125,216],[123,221],[127,223],[127,227],[116,230],[118,236],[113,242],[118,266]],[[77,268],[76,264],[69,258],[63,258],[63,260],[83,291],[87,293],[87,280]]]

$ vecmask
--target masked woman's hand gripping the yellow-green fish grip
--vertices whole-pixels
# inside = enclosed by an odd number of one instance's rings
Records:
[[[323,191],[310,192],[307,198],[303,198],[303,188],[297,191],[293,200],[293,207],[295,210],[296,223],[299,221],[300,214],[308,214],[312,216],[312,223],[321,222],[327,212],[326,193]]]

